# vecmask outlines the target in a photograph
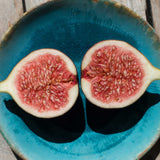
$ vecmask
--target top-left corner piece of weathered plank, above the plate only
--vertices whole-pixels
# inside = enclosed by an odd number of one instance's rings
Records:
[[[0,39],[23,14],[21,0],[0,0]]]

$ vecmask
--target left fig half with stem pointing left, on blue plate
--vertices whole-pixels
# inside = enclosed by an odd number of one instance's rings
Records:
[[[77,99],[76,67],[58,50],[36,50],[14,67],[0,83],[0,91],[9,93],[23,110],[36,117],[57,117]]]

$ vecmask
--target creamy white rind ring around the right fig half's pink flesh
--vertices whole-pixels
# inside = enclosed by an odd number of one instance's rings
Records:
[[[93,88],[93,84],[91,83],[91,80],[87,80],[86,77],[84,77],[84,70],[87,68],[87,66],[90,65],[90,63],[93,61],[93,54],[98,51],[99,49],[105,47],[105,46],[115,46],[120,47],[124,50],[128,50],[133,54],[133,57],[136,57],[137,61],[140,63],[140,67],[143,70],[143,80],[142,85],[139,88],[139,90],[136,92],[136,94],[133,94],[132,96],[125,96],[125,98],[122,101],[119,100],[111,100],[110,102],[107,102],[105,100],[99,100],[97,97],[92,93],[91,88]],[[93,45],[84,55],[82,64],[81,64],[81,88],[86,96],[86,98],[93,103],[94,105],[101,107],[101,108],[123,108],[126,106],[131,105],[135,101],[137,101],[145,92],[147,87],[150,85],[152,81],[157,79],[157,77],[154,75],[154,73],[158,73],[159,70],[152,66],[152,64],[146,59],[146,57],[140,53],[136,48],[131,46],[130,44],[119,41],[119,40],[105,40],[96,43]],[[93,80],[93,79],[92,79]],[[110,86],[109,86],[110,87]],[[102,87],[103,88],[103,87]],[[121,98],[121,96],[120,96]],[[116,99],[116,98],[115,98]],[[104,102],[105,101],[105,102]]]

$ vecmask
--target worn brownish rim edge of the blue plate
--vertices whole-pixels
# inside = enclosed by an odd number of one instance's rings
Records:
[[[52,5],[52,3],[56,3],[57,1],[65,1],[65,0],[49,0],[47,2],[43,2],[31,9],[29,9],[28,11],[24,12],[20,18],[18,18],[10,27],[8,27],[7,31],[3,34],[1,40],[0,40],[0,49],[3,47],[3,45],[5,45],[6,41],[9,39],[9,37],[12,35],[12,33],[16,30],[16,27],[28,16],[30,16],[32,13],[34,13],[35,11],[43,8],[43,7],[47,7],[49,5]],[[85,0],[84,0],[85,1]],[[137,19],[138,21],[142,22],[143,25],[145,25],[148,30],[146,32],[152,32],[152,36],[151,39],[153,41],[158,41],[160,43],[160,37],[158,36],[158,34],[156,33],[155,29],[147,22],[147,20],[145,20],[144,18],[142,18],[140,15],[138,15],[136,12],[134,12],[132,9],[128,8],[127,6],[121,4],[120,2],[117,2],[115,0],[86,0],[86,1],[91,1],[92,3],[99,3],[99,2],[104,2],[104,5],[109,5],[112,4],[115,8],[122,8],[125,11],[125,14],[129,14],[129,16]],[[154,38],[155,37],[155,38]],[[7,136],[5,136],[5,133],[2,129],[2,127],[0,127],[0,133],[2,134],[2,136],[4,137],[4,139],[6,140],[7,144],[11,147],[11,149],[22,159],[24,160],[28,160],[23,153],[20,153],[20,151],[15,147],[14,144],[12,144],[12,142],[9,141],[9,139],[7,138]],[[160,126],[158,128],[157,131],[157,135],[155,137],[153,137],[152,142],[150,143],[150,145],[148,145],[143,151],[140,151],[140,153],[138,155],[135,156],[135,160],[136,159],[140,159],[142,158],[157,142],[158,138],[160,138]]]

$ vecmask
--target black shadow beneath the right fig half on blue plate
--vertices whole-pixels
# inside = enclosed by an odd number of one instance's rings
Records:
[[[88,125],[95,132],[112,134],[133,127],[146,110],[160,101],[159,94],[145,92],[134,104],[121,109],[102,109],[86,102]]]

